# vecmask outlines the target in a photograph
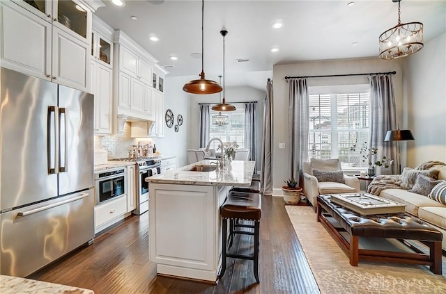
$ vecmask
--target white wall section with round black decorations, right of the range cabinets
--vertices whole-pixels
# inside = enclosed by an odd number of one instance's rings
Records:
[[[189,81],[185,76],[169,77],[164,79],[164,114],[167,109],[174,113],[174,126],[168,128],[164,123],[164,138],[155,138],[154,143],[158,151],[166,156],[176,156],[176,166],[187,164],[187,138],[190,133],[190,97],[183,91],[183,85]],[[164,117],[163,114],[163,117]],[[178,115],[183,115],[183,125],[178,126],[175,132],[175,124],[178,123]]]

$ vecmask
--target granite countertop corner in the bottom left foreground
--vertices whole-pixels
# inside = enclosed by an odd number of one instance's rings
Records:
[[[94,294],[92,290],[66,286],[61,284],[48,283],[47,281],[36,281],[34,279],[24,279],[21,277],[10,277],[0,275],[1,294]]]

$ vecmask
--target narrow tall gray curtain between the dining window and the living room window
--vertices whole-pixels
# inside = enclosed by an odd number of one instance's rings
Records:
[[[266,97],[263,101],[263,134],[261,153],[261,192],[272,195],[272,81],[266,82]]]

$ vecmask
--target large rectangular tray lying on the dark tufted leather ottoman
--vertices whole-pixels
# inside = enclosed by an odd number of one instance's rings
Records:
[[[369,193],[330,194],[330,201],[351,209],[360,215],[401,213],[406,205]]]

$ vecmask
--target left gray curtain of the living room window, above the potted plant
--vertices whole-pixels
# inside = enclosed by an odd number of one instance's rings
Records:
[[[303,163],[308,160],[308,88],[307,79],[289,79],[289,159],[290,177],[300,181]],[[303,183],[300,183],[303,186]]]

